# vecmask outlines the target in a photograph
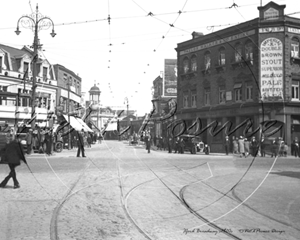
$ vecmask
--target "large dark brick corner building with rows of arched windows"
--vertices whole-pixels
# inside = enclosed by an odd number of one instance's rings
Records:
[[[190,126],[199,117],[204,127],[251,119],[250,131],[274,119],[284,127],[272,137],[284,136],[289,146],[300,139],[300,19],[284,9],[269,2],[258,7],[256,19],[207,35],[194,32],[178,44],[178,119]],[[224,152],[224,130],[200,136],[213,152]]]

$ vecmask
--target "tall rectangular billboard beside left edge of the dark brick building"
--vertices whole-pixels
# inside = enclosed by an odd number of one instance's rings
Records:
[[[164,96],[177,96],[177,59],[165,59]]]

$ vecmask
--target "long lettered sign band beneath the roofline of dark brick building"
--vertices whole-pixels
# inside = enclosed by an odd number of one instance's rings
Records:
[[[234,40],[237,40],[237,39],[240,39],[240,38],[248,37],[248,36],[251,36],[253,34],[255,34],[255,30],[250,30],[248,32],[240,33],[240,34],[233,35],[233,36],[230,36],[230,37],[227,37],[227,38],[222,38],[220,40],[216,40],[216,41],[206,43],[206,44],[203,44],[203,45],[200,45],[200,46],[197,46],[197,47],[193,47],[193,48],[189,48],[189,49],[180,51],[179,55],[184,55],[184,54],[196,52],[196,51],[206,49],[206,48],[210,48],[210,47],[213,47],[213,46],[216,46],[216,45],[219,45],[219,44],[224,44],[224,43],[234,41]]]

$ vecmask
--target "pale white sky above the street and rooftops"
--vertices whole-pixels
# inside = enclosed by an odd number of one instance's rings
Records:
[[[193,31],[207,34],[258,17],[260,0],[9,0],[1,1],[0,43],[16,48],[32,45],[33,32],[21,28],[18,19],[38,3],[42,15],[50,17],[51,29],[39,32],[44,54],[78,73],[82,91],[95,81],[103,105],[124,105],[139,115],[151,109],[153,80],[164,70],[164,59],[176,59],[177,43],[190,40]],[[269,1],[262,1],[265,5]],[[285,4],[285,14],[300,11],[299,0],[274,0]],[[238,8],[230,6],[236,3]],[[227,9],[226,9],[227,8]],[[179,15],[179,10],[182,13]],[[205,11],[203,11],[205,10]],[[147,16],[148,13],[154,16]],[[111,17],[108,24],[108,15]],[[300,14],[292,15],[300,18]],[[95,21],[98,20],[98,21]],[[86,21],[92,21],[83,23]],[[169,24],[174,24],[171,28]],[[220,25],[227,25],[221,26]],[[164,38],[163,38],[164,36]],[[109,44],[112,46],[109,46]],[[154,51],[154,49],[156,51]],[[111,50],[111,52],[109,52]]]

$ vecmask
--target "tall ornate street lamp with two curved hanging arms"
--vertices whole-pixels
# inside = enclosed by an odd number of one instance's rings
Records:
[[[52,26],[52,32],[50,35],[55,37],[56,33],[54,32],[54,23],[49,17],[43,16],[38,11],[38,5],[36,5],[36,11],[29,15],[24,15],[19,18],[17,23],[17,30],[15,33],[19,35],[21,31],[19,30],[19,24],[21,23],[22,27],[31,29],[34,32],[34,40],[33,40],[33,66],[32,66],[32,98],[31,98],[31,119],[33,119],[31,123],[31,127],[35,127],[35,90],[36,90],[36,62],[38,59],[38,49],[41,47],[38,39],[38,32],[43,29],[49,29]]]

